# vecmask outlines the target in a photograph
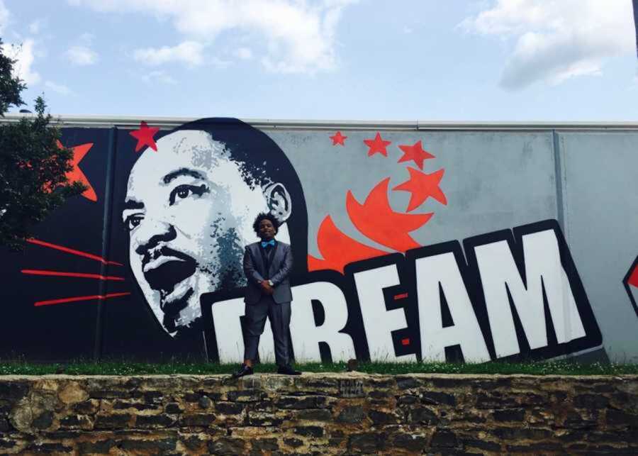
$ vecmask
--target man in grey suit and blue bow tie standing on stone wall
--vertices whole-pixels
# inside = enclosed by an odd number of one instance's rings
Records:
[[[270,213],[260,213],[252,228],[261,238],[260,242],[246,246],[244,252],[244,274],[246,287],[247,337],[244,362],[233,377],[253,373],[252,365],[257,357],[259,336],[264,332],[266,317],[274,337],[275,361],[278,374],[299,375],[290,366],[290,303],[292,294],[289,274],[293,267],[290,245],[277,242],[275,235],[279,221]]]

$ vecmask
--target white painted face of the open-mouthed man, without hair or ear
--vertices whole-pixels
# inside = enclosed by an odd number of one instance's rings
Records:
[[[267,201],[242,173],[225,145],[197,130],[164,136],[131,169],[122,213],[130,267],[169,333],[201,316],[201,294],[245,284],[243,248]]]

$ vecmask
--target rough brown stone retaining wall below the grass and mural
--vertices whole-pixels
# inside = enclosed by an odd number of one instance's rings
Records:
[[[638,376],[0,377],[0,453],[638,454]]]

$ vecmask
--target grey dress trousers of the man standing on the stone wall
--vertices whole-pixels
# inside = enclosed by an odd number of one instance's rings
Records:
[[[257,304],[246,304],[246,347],[245,360],[257,359],[259,336],[264,332],[266,317],[270,320],[274,337],[275,362],[286,366],[290,362],[289,337],[290,303],[277,304],[272,296],[262,296]]]

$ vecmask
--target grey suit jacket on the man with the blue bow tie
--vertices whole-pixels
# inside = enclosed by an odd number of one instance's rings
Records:
[[[262,288],[258,282],[268,279],[274,284],[272,298],[277,304],[292,301],[288,277],[293,266],[290,245],[277,241],[268,270],[265,270],[261,249],[261,243],[258,242],[247,245],[244,251],[244,274],[248,281],[245,303],[250,305],[259,302],[262,298]]]

